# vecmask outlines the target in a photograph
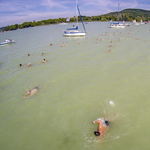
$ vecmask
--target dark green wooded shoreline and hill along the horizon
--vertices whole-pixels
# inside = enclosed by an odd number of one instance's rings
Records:
[[[127,21],[131,22],[133,20],[136,20],[137,22],[142,21],[149,21],[150,20],[150,11],[148,10],[142,10],[142,9],[125,9],[123,11],[118,12],[111,12],[104,15],[98,15],[98,16],[82,16],[82,20],[84,22],[92,22],[92,21]],[[75,22],[76,17],[70,18],[69,22]],[[80,22],[80,17],[78,16],[78,21]],[[50,24],[58,24],[61,22],[66,22],[66,18],[58,18],[58,19],[47,19],[47,20],[41,20],[41,21],[35,21],[32,22],[24,22],[22,24],[14,24],[10,26],[6,26],[2,29],[2,31],[9,31],[9,30],[17,30],[17,29],[23,29],[28,27],[35,27],[35,26],[42,26],[42,25],[50,25]]]

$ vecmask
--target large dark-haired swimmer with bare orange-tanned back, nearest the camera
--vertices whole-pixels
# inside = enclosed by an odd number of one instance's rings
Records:
[[[99,118],[93,121],[93,124],[98,123],[98,129],[94,132],[96,136],[100,136],[102,138],[105,132],[108,130],[109,122],[104,118]]]

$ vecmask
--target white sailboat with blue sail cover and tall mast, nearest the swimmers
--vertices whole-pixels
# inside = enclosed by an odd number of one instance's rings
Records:
[[[78,13],[79,13],[79,15],[80,15],[80,19],[81,19],[81,21],[82,21],[82,25],[83,25],[83,28],[84,28],[84,32],[78,30],[77,10],[78,10]],[[84,23],[83,23],[81,14],[80,14],[79,7],[78,7],[78,5],[77,5],[77,0],[76,0],[76,24],[77,24],[77,25],[76,25],[75,28],[68,28],[67,31],[64,31],[64,36],[67,36],[67,37],[78,37],[78,36],[85,36],[85,34],[86,34],[85,26],[84,26]]]

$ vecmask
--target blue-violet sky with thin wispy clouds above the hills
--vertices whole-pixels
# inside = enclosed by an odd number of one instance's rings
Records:
[[[120,9],[150,10],[150,0],[78,0],[81,15],[96,16]],[[76,15],[76,0],[0,0],[0,27]]]

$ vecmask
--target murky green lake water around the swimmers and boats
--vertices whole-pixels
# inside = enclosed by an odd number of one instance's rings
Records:
[[[0,33],[16,41],[0,47],[0,149],[149,149],[150,25],[90,22],[85,37],[63,37],[72,25]],[[111,123],[102,140],[100,117]]]

